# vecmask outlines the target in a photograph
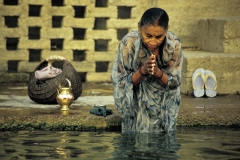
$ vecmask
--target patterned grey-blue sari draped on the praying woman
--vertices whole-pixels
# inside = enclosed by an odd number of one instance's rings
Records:
[[[179,39],[168,32],[157,65],[168,75],[167,87],[149,75],[133,86],[132,74],[151,55],[138,31],[128,33],[120,42],[111,79],[115,107],[122,118],[122,132],[169,132],[176,130],[180,106],[183,53]]]

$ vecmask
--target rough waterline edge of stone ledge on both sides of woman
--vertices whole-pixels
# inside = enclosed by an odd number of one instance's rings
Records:
[[[239,127],[240,116],[182,116],[178,117],[177,127],[224,126]],[[121,118],[95,117],[83,120],[82,116],[0,116],[0,131],[11,130],[64,130],[97,131],[121,130]]]

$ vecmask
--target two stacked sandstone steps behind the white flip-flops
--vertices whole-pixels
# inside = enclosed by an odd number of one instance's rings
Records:
[[[193,93],[192,74],[197,68],[214,72],[217,93],[240,92],[240,17],[220,17],[199,21],[199,43],[204,51],[184,51],[183,93]]]

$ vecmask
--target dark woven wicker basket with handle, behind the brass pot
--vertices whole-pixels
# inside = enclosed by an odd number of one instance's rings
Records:
[[[50,79],[38,80],[35,78],[35,71],[41,70],[47,65],[52,65],[54,61],[62,61],[62,73]],[[82,82],[78,72],[64,57],[50,56],[42,61],[33,71],[28,84],[28,96],[31,100],[41,104],[56,104],[58,84],[67,78],[72,85],[72,93],[74,100],[78,99],[82,94]],[[66,83],[66,84],[65,84]],[[62,86],[67,85],[67,82]]]

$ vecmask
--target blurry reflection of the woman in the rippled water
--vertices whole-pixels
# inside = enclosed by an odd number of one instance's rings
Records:
[[[122,134],[116,137],[116,159],[177,159],[176,134]]]

